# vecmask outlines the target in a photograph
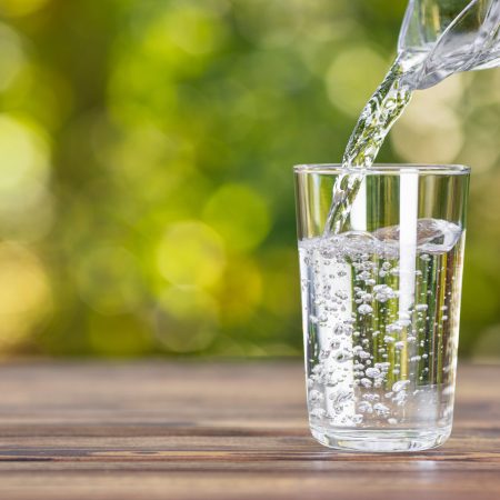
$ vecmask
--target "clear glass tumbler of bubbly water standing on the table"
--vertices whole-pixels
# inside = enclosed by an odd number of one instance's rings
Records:
[[[376,164],[323,236],[338,164],[294,168],[312,436],[411,451],[450,436],[469,169]]]

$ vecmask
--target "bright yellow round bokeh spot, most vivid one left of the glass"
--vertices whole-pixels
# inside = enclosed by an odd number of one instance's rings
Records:
[[[210,287],[226,263],[221,238],[198,221],[172,224],[158,247],[157,259],[161,274],[179,286]]]

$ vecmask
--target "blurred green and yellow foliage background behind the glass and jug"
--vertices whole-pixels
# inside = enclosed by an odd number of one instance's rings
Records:
[[[300,356],[291,166],[338,162],[404,1],[0,0],[0,354]],[[472,166],[461,353],[500,358],[498,70],[379,161]]]

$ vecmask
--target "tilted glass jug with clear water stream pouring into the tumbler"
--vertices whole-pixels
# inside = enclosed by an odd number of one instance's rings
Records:
[[[413,91],[460,71],[500,64],[500,0],[410,0],[398,57],[363,108],[349,139],[346,173],[333,187],[323,238],[339,233],[391,127]]]

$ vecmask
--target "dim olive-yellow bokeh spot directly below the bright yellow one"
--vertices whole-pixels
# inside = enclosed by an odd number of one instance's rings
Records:
[[[157,336],[168,350],[182,353],[207,349],[217,332],[217,303],[208,293],[172,287],[160,298]]]

